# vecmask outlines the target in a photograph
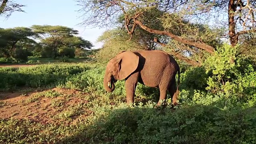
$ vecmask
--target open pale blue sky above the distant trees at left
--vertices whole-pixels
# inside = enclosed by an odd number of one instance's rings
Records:
[[[30,27],[38,25],[61,25],[74,28],[79,31],[79,36],[89,40],[94,44],[93,49],[100,48],[102,43],[96,43],[98,36],[104,29],[78,26],[81,15],[76,12],[80,9],[74,0],[15,0],[19,4],[24,4],[24,12],[14,12],[6,19],[0,17],[0,28],[13,28],[17,26]]]

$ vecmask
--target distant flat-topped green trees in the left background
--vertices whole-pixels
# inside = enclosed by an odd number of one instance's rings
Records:
[[[31,28],[0,28],[0,57],[13,57],[18,62],[26,62],[26,54],[44,58],[57,56],[74,58],[75,49],[85,50],[93,47],[91,42],[75,36],[76,34],[78,34],[77,30],[66,26],[33,25]],[[32,38],[37,38],[40,42],[37,43]]]

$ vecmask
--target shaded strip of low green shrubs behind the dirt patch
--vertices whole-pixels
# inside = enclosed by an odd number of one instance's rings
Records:
[[[68,76],[89,70],[84,65],[46,64],[26,68],[1,68],[0,88],[11,89],[28,86],[39,88],[61,84]]]

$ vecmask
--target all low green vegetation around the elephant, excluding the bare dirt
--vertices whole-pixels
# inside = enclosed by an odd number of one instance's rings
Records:
[[[168,96],[166,108],[155,107],[158,89],[142,84],[134,106],[126,105],[124,81],[107,93],[102,84],[105,66],[100,63],[1,68],[4,91],[57,87],[78,93],[48,90],[24,101],[50,98],[51,107],[64,110],[49,124],[2,119],[0,143],[256,143],[254,63],[224,45],[201,67],[180,66],[180,104],[173,107]],[[67,106],[72,98],[80,102]]]

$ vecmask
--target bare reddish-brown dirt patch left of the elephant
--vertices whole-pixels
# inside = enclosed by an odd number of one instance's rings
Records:
[[[82,98],[83,94],[78,91],[60,88],[51,90],[58,92],[60,96],[44,97],[42,92],[50,90],[25,94],[21,92],[0,93],[0,118],[28,119],[41,124],[67,122],[59,118],[60,114],[72,112],[72,108],[87,102]],[[83,111],[85,114],[80,116],[78,114],[74,119],[72,118],[72,123],[77,118],[86,117],[90,114],[89,110],[83,109]]]

